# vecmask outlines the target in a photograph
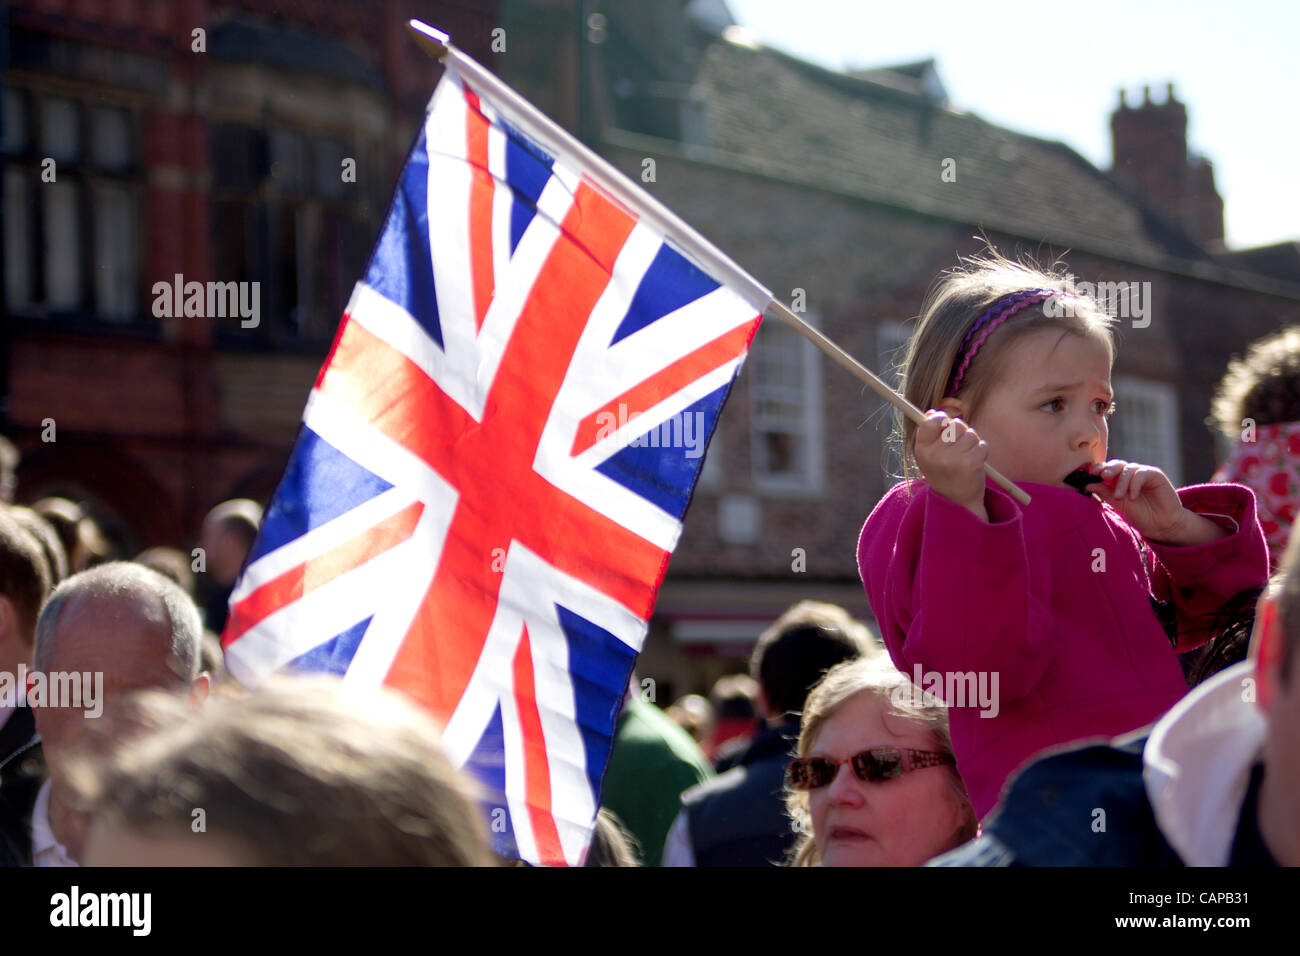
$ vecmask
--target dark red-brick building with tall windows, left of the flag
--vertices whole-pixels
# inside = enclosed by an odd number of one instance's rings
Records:
[[[491,62],[491,0],[0,5],[22,499],[86,501],[134,553],[270,494],[437,79],[410,17]],[[257,325],[157,316],[176,276],[257,282]]]

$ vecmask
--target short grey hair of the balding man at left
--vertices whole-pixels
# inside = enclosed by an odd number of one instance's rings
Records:
[[[127,597],[148,596],[159,598],[166,607],[172,628],[169,658],[176,675],[191,683],[199,675],[203,640],[203,620],[190,596],[176,581],[142,564],[113,561],[68,578],[46,601],[36,619],[35,666],[48,671],[53,657],[55,628],[64,607],[74,597]]]

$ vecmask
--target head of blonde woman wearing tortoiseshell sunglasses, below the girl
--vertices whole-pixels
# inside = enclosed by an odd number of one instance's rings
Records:
[[[948,709],[888,663],[827,671],[803,705],[792,866],[919,866],[975,836]]]

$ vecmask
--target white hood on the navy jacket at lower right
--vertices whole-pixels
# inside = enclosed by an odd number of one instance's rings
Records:
[[[1143,780],[1169,845],[1188,866],[1223,866],[1268,724],[1254,662],[1214,675],[1175,704],[1143,749]]]

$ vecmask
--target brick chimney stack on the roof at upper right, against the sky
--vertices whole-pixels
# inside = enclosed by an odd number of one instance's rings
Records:
[[[1150,87],[1144,86],[1136,107],[1121,90],[1119,108],[1110,114],[1110,139],[1115,178],[1136,187],[1199,242],[1222,248],[1223,200],[1214,189],[1214,168],[1187,152],[1187,107],[1174,98],[1173,83],[1164,103],[1152,103]]]

